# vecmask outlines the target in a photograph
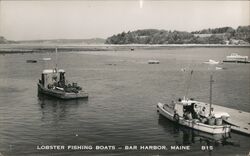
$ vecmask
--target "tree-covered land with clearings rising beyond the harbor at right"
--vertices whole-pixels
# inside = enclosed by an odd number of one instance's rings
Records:
[[[221,27],[199,31],[143,29],[122,32],[106,39],[106,44],[225,44],[250,43],[250,26]]]

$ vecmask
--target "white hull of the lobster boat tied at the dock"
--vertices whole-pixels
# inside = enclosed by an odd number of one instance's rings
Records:
[[[222,134],[222,133],[228,133],[230,132],[231,128],[229,125],[207,125],[203,124],[201,122],[198,122],[196,120],[185,120],[183,117],[179,117],[178,120],[176,120],[173,111],[170,112],[163,108],[164,104],[158,103],[157,105],[157,111],[166,117],[167,119],[174,121],[180,125],[199,130],[202,132],[210,133],[210,134]]]

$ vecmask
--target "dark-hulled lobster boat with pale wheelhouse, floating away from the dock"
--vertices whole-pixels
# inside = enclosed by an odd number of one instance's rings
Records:
[[[57,51],[57,50],[56,50]],[[38,84],[38,93],[60,99],[88,98],[88,93],[82,90],[76,82],[68,83],[63,69],[45,69]]]

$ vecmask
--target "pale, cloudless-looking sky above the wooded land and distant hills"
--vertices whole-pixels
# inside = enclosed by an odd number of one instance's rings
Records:
[[[249,1],[0,0],[0,36],[10,40],[106,38],[122,31],[193,31],[250,25]]]

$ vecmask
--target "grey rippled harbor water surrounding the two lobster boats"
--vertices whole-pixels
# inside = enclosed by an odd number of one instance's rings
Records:
[[[37,94],[42,70],[55,64],[54,53],[1,54],[0,155],[247,155],[249,136],[203,134],[175,125],[156,111],[158,102],[183,97],[187,86],[187,97],[209,102],[213,74],[213,103],[250,112],[250,64],[203,63],[222,61],[231,53],[250,57],[249,48],[225,47],[59,52],[57,64],[68,81],[78,82],[89,93],[88,100],[67,101]],[[42,60],[45,57],[52,61]],[[41,145],[116,149],[41,150]],[[125,150],[126,145],[191,149]]]

